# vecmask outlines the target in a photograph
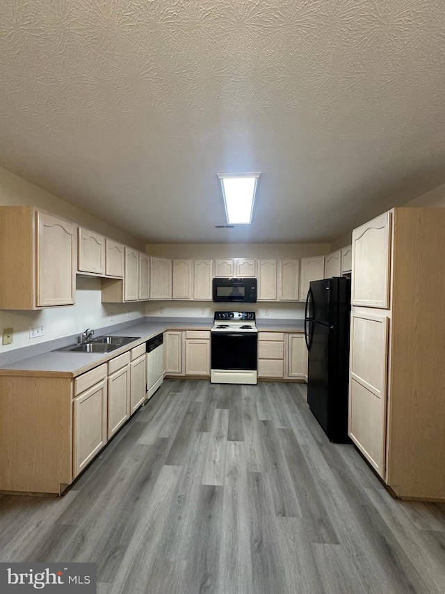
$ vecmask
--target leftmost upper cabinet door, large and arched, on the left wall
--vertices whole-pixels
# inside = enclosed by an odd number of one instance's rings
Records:
[[[37,306],[74,305],[76,225],[37,213]]]

